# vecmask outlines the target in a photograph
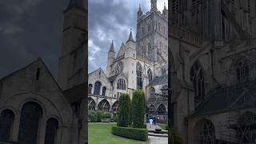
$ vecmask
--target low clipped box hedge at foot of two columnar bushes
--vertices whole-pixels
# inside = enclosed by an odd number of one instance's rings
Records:
[[[148,130],[146,129],[138,129],[138,128],[130,128],[130,127],[112,127],[112,134],[118,135],[124,138],[131,138],[140,141],[146,141]]]

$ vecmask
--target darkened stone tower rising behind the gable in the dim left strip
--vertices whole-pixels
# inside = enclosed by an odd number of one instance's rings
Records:
[[[70,0],[64,10],[62,51],[58,64],[58,84],[62,90],[85,82],[87,30],[83,0]]]

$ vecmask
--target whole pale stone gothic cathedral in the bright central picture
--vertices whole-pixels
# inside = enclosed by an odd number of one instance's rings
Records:
[[[134,15],[135,16],[135,15]],[[111,42],[106,70],[98,68],[89,74],[89,110],[118,114],[118,98],[122,93],[133,97],[134,90],[146,94],[146,115],[158,122],[167,121],[168,109],[168,10],[159,11],[157,0],[151,0],[150,11],[137,12],[136,39],[130,30],[118,53]],[[128,35],[128,34],[127,34]]]

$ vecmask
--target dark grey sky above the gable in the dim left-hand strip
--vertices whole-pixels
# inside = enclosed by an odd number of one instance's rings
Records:
[[[69,0],[0,1],[0,78],[41,57],[56,77]]]

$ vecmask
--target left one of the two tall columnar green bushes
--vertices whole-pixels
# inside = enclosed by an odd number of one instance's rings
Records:
[[[129,102],[130,97],[128,94],[121,94],[118,103],[118,126],[128,126],[128,115],[129,115]],[[127,110],[128,108],[128,110]]]

